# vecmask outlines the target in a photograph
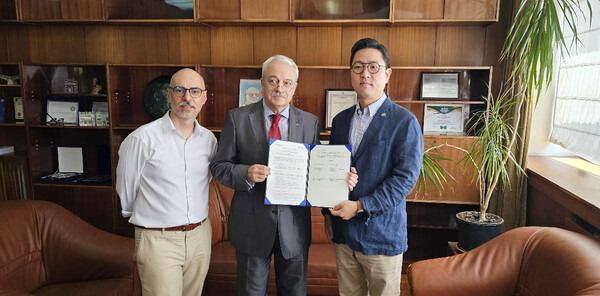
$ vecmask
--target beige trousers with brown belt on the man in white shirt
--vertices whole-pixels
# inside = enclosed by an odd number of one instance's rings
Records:
[[[142,294],[201,295],[210,264],[209,219],[192,231],[135,228]]]

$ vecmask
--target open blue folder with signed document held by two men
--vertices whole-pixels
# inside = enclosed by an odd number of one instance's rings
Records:
[[[351,150],[271,139],[265,204],[333,207],[347,200]]]

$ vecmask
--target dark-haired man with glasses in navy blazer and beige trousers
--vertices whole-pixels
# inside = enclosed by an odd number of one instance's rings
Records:
[[[358,104],[333,119],[330,144],[352,145],[360,182],[348,201],[323,210],[325,232],[335,245],[340,295],[400,295],[406,196],[421,168],[423,136],[415,116],[384,92],[392,69],[382,44],[357,41],[350,67]]]

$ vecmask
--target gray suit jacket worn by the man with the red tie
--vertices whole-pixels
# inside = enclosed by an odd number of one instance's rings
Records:
[[[250,256],[269,256],[279,232],[282,253],[294,257],[310,246],[310,208],[265,205],[265,182],[248,190],[246,173],[253,164],[267,165],[269,139],[262,101],[229,110],[217,155],[210,164],[213,177],[235,189],[229,214],[229,241]],[[319,143],[319,119],[290,106],[288,140]]]

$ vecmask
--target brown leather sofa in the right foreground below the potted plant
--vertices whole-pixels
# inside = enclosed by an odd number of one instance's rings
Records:
[[[600,242],[521,227],[464,254],[415,262],[408,281],[413,296],[600,295]]]

